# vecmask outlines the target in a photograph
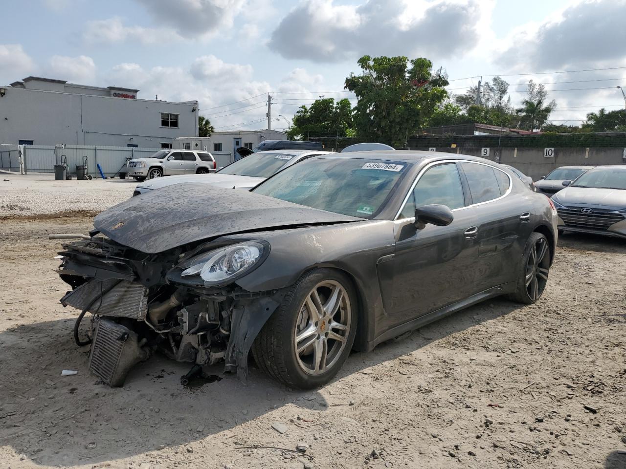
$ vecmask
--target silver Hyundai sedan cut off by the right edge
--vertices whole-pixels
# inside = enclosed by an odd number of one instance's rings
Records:
[[[626,238],[626,166],[595,166],[552,196],[558,230]]]

